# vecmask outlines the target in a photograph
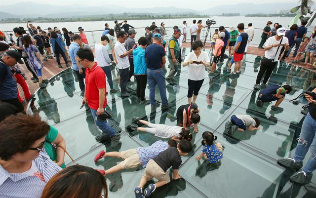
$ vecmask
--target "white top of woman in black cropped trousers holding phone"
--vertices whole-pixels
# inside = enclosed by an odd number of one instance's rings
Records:
[[[194,61],[203,61],[204,63],[210,62],[207,52],[201,51],[201,54],[197,58],[197,55],[193,52],[190,52],[184,62],[189,60]],[[191,80],[201,80],[205,78],[205,66],[203,64],[188,64],[189,68],[189,79]]]

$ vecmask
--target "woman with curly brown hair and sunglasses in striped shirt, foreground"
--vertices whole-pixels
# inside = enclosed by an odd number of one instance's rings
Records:
[[[61,170],[42,152],[49,126],[40,116],[9,116],[0,122],[0,197],[40,198]]]

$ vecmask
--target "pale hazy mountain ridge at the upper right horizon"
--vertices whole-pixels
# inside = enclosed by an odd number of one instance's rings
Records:
[[[238,4],[227,4],[218,5],[215,7],[208,8],[206,10],[201,10],[203,14],[217,15],[222,13],[240,13],[240,15],[245,14],[274,14],[278,10],[288,10],[297,6],[297,3],[238,3]]]

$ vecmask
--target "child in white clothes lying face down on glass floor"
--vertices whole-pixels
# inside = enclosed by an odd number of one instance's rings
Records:
[[[138,131],[154,134],[156,137],[171,138],[175,141],[183,139],[192,140],[192,134],[189,130],[181,126],[168,126],[165,124],[153,124],[149,121],[139,119],[138,122],[147,125],[148,127],[137,127]],[[135,122],[134,122],[135,123]]]

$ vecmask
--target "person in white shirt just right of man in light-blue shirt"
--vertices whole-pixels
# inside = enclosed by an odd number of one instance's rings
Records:
[[[113,81],[112,81],[112,72],[110,68],[110,63],[113,61],[110,59],[108,50],[106,45],[109,42],[109,38],[107,36],[102,36],[101,41],[94,46],[94,53],[96,56],[96,61],[98,65],[101,67],[103,72],[105,73],[108,83],[110,85],[110,94],[115,93],[117,90],[113,88]]]

